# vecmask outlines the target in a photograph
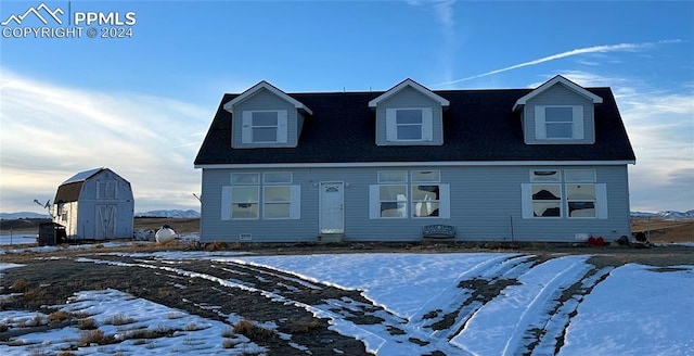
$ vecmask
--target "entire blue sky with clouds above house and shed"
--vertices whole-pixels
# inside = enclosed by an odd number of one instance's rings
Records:
[[[694,2],[46,1],[128,12],[129,38],[0,37],[0,211],[43,212],[77,171],[136,211],[195,208],[193,160],[224,92],[612,87],[637,153],[632,211],[694,208]],[[40,1],[3,1],[0,22]],[[68,15],[61,16],[65,24]],[[82,26],[119,27],[117,25]]]

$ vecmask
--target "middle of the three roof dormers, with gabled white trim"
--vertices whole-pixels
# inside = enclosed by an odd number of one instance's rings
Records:
[[[444,144],[444,109],[449,101],[406,79],[369,102],[376,112],[376,144]]]

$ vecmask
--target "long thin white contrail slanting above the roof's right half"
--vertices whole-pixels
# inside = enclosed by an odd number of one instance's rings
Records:
[[[641,50],[641,49],[644,49],[644,48],[648,48],[648,47],[652,47],[652,46],[655,46],[655,44],[677,43],[677,42],[681,42],[681,40],[674,39],[674,40],[663,40],[663,41],[657,41],[657,42],[619,43],[619,44],[604,44],[604,46],[593,46],[593,47],[579,48],[579,49],[575,49],[575,50],[570,50],[570,51],[566,51],[566,52],[562,52],[562,53],[557,53],[557,54],[548,55],[548,56],[544,56],[544,58],[541,58],[541,59],[538,59],[538,60],[515,64],[515,65],[512,65],[512,66],[507,66],[505,68],[496,69],[496,71],[491,71],[491,72],[474,75],[474,76],[467,77],[467,78],[439,82],[439,84],[433,85],[433,87],[440,87],[440,86],[457,84],[457,82],[466,81],[466,80],[471,80],[471,79],[481,78],[481,77],[490,76],[490,75],[493,75],[493,74],[507,72],[507,71],[512,71],[512,69],[517,69],[517,68],[522,68],[522,67],[525,67],[525,66],[536,65],[536,64],[540,64],[540,63],[544,63],[544,62],[549,62],[549,61],[560,60],[560,59],[571,56],[571,55],[578,55],[578,54],[584,54],[584,53],[633,52],[633,51],[638,51],[638,50]]]

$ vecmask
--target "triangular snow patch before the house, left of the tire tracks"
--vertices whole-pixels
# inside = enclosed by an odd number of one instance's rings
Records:
[[[511,254],[478,253],[464,256],[451,258],[447,254],[375,253],[349,255],[349,258],[344,258],[343,255],[303,255],[233,260],[290,271],[305,279],[342,289],[361,290],[375,305],[402,318],[410,318],[424,306],[422,302],[454,290],[457,281],[470,271],[484,270]],[[384,263],[385,260],[388,263]],[[433,270],[436,272],[433,274]],[[403,295],[408,297],[402,297]]]

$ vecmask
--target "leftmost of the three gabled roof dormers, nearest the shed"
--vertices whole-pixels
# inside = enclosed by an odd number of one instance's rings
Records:
[[[296,147],[305,117],[313,112],[304,103],[262,80],[223,109],[232,116],[235,149]]]

